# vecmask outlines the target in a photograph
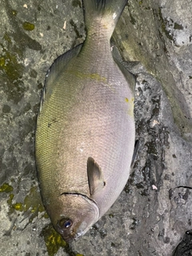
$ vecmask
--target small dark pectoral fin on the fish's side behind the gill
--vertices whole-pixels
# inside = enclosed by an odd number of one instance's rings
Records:
[[[98,166],[98,163],[94,161],[94,158],[87,159],[87,176],[90,187],[90,195],[93,195],[97,190],[102,190],[102,188],[106,186],[106,182],[103,179],[102,170]]]

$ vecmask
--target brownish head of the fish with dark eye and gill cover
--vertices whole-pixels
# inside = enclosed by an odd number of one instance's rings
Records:
[[[51,203],[50,203],[51,205]],[[66,242],[77,240],[98,221],[97,204],[82,194],[62,194],[59,202],[48,206],[54,229]]]

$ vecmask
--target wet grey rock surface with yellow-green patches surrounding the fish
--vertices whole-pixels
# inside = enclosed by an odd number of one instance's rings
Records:
[[[191,8],[126,6],[113,42],[137,76],[138,157],[114,206],[67,246],[42,207],[34,130],[46,70],[85,38],[82,4],[0,1],[0,255],[191,255]]]

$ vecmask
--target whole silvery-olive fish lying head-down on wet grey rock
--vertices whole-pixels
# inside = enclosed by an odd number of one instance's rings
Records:
[[[106,214],[129,178],[135,79],[110,46],[126,2],[83,0],[86,39],[46,74],[35,158],[43,205],[66,242]]]

